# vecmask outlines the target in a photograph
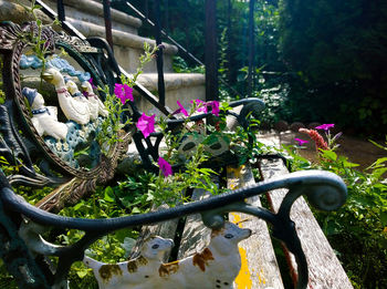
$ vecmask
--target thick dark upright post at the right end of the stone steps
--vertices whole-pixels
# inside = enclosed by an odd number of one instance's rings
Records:
[[[217,0],[206,0],[206,100],[217,101],[218,56],[217,56]]]

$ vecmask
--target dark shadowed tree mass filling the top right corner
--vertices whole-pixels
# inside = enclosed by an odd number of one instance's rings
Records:
[[[386,3],[282,0],[280,7],[280,48],[291,72],[287,105],[293,116],[383,136]]]

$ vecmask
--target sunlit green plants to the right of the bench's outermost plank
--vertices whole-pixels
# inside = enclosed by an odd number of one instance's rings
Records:
[[[383,288],[387,283],[387,157],[360,172],[357,164],[332,149],[322,151],[318,163],[312,165],[294,147],[285,148],[293,168],[326,169],[344,179],[346,204],[336,211],[315,211],[315,216],[355,288]]]

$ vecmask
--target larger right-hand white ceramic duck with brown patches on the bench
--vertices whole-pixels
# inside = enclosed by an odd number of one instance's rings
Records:
[[[201,252],[164,264],[148,288],[233,288],[241,269],[238,242],[250,235],[250,229],[227,221],[223,228],[212,230],[210,244]]]

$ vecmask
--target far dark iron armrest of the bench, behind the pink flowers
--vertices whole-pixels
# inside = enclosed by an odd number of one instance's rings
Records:
[[[249,99],[243,99],[240,101],[234,101],[229,104],[231,107],[237,107],[242,105],[242,109],[239,113],[228,111],[226,113],[226,116],[231,115],[237,118],[238,123],[244,128],[248,130],[249,127],[249,116],[252,115],[254,117],[259,117],[261,111],[264,109],[264,103],[257,99],[257,97],[249,97]],[[179,126],[181,126],[185,122],[196,122],[203,120],[208,116],[211,116],[211,113],[202,113],[198,115],[194,115],[187,118],[178,118],[178,120],[168,120],[167,125],[168,125],[168,131],[174,131],[177,130]],[[151,172],[158,172],[158,167],[153,165],[153,161],[157,162],[159,157],[159,145],[163,141],[164,134],[163,133],[153,133],[150,134],[150,137],[156,137],[155,143],[151,143],[149,138],[144,138],[143,134],[140,132],[136,132],[133,136],[133,140],[135,141],[136,148],[142,157],[143,165],[146,169],[151,171]],[[253,145],[253,138],[249,134],[249,145],[252,147]],[[236,161],[233,158],[228,157],[230,159],[229,163],[224,163],[223,165],[231,165],[234,164]],[[211,163],[209,161],[208,163]],[[238,162],[237,162],[238,163]],[[177,165],[177,167],[180,167],[181,165]]]

